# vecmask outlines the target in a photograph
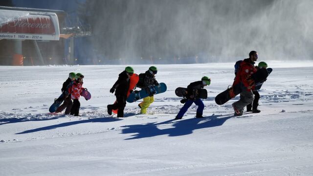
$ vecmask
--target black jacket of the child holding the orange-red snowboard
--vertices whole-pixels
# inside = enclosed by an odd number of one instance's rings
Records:
[[[129,84],[130,84],[130,79],[129,79],[126,71],[121,72],[118,75],[117,81],[113,85],[113,88],[115,88],[115,94],[114,95],[127,97]]]

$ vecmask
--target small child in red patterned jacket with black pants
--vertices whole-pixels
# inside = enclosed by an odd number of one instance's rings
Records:
[[[73,84],[71,87],[68,88],[68,93],[71,96],[71,99],[73,99],[73,106],[70,110],[70,115],[79,116],[79,108],[80,108],[80,102],[79,98],[83,91],[83,78],[84,75],[81,73],[77,73],[75,75],[75,80],[73,81]]]

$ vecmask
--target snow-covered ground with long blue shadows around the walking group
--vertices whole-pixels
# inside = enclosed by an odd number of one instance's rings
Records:
[[[266,61],[273,72],[260,91],[261,113],[234,117],[215,96],[232,84],[234,63],[157,65],[168,90],[148,114],[127,104],[107,114],[109,92],[125,66],[0,66],[1,176],[312,176],[313,62]],[[134,65],[136,73],[149,65]],[[85,75],[92,98],[80,117],[49,115],[69,72]],[[205,118],[182,107],[174,90],[211,78]]]

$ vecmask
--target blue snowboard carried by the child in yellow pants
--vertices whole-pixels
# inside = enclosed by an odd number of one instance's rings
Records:
[[[151,86],[148,88],[149,91],[147,91],[146,89],[141,89],[141,90],[135,90],[133,91],[127,98],[127,102],[128,103],[133,103],[137,100],[140,100],[142,98],[146,98],[147,96],[149,96],[149,92],[153,92],[153,94],[159,94],[159,93],[163,93],[166,91],[167,87],[165,83],[160,83],[158,86]]]

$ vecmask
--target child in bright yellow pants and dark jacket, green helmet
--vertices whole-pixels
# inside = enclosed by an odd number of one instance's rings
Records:
[[[139,81],[136,87],[145,89],[149,93],[149,96],[143,98],[143,102],[138,104],[141,114],[147,113],[148,107],[155,101],[153,95],[156,93],[156,90],[153,87],[159,85],[156,81],[156,73],[156,66],[150,66],[145,73],[139,74]]]

